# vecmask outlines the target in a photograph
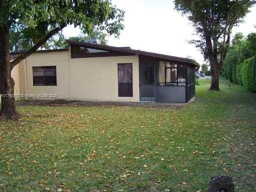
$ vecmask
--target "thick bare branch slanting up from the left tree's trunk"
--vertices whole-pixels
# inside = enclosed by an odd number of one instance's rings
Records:
[[[14,60],[12,60],[10,62],[12,68],[18,64],[21,60],[25,59],[26,57],[28,57],[30,54],[32,54],[33,52],[35,52],[41,45],[43,45],[43,43],[45,43],[52,35],[56,34],[58,31],[62,30],[64,27],[66,26],[66,24],[62,24],[54,29],[52,29],[51,31],[49,31],[41,40],[39,40],[39,42],[37,42],[34,46],[32,46],[29,50],[27,50],[24,53],[21,53],[19,56],[17,56]]]

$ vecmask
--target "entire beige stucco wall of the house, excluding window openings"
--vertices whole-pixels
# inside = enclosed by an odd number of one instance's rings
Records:
[[[132,97],[118,97],[117,63],[132,63]],[[33,66],[56,66],[57,85],[33,86]],[[33,53],[15,66],[11,74],[18,94],[57,94],[58,99],[73,100],[139,101],[138,55],[70,58],[69,51]]]

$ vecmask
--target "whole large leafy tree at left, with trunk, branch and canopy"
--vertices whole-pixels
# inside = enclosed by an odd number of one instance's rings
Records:
[[[86,32],[99,28],[118,36],[123,29],[123,16],[124,12],[110,0],[0,0],[0,117],[16,119],[19,115],[14,97],[6,96],[14,93],[11,70],[17,63],[67,24]],[[23,24],[17,29],[22,37],[35,44],[10,62],[11,26],[17,22]]]

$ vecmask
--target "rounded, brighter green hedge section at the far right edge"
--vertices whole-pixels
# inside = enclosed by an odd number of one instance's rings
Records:
[[[241,78],[242,84],[248,89],[253,90],[253,82],[252,82],[252,63],[254,57],[247,58],[243,61],[241,67]]]

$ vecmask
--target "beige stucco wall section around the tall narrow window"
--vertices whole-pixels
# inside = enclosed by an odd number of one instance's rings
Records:
[[[132,97],[118,97],[117,63],[132,63]],[[138,55],[70,58],[70,99],[139,101]]]

